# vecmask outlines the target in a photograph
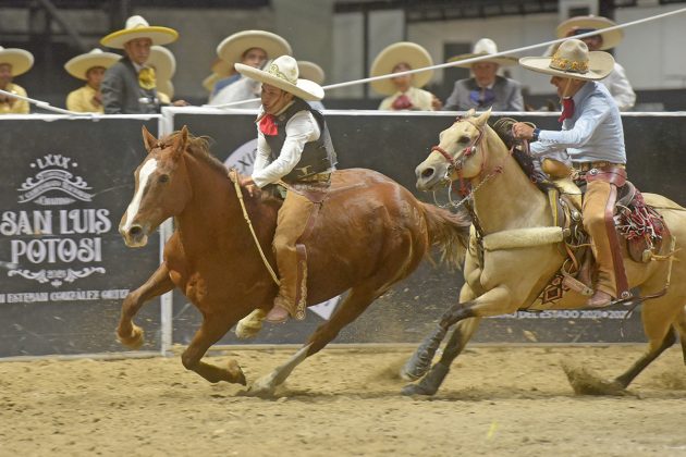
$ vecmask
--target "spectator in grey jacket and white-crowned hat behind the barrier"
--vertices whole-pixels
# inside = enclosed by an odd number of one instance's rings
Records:
[[[473,53],[456,55],[449,59],[449,62],[497,52],[498,46],[492,39],[481,38],[474,46]],[[471,108],[476,110],[492,108],[493,111],[524,111],[522,85],[514,79],[498,75],[498,70],[502,66],[515,65],[516,63],[516,58],[501,55],[474,63],[457,64],[456,66],[471,69],[474,76],[455,83],[443,109],[446,111],[467,111]]]

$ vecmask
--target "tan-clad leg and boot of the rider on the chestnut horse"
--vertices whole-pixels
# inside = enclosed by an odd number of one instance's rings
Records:
[[[281,285],[274,305],[286,309],[297,319],[305,318],[307,258],[304,246],[301,246],[298,259],[296,244],[307,228],[315,205],[303,195],[289,190],[277,218],[273,249]]]

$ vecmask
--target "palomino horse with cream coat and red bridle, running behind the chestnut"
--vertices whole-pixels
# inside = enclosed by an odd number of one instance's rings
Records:
[[[479,116],[469,112],[466,118],[458,119],[441,133],[440,145],[416,169],[417,187],[421,190],[451,185],[461,177],[469,181],[476,214],[474,223],[475,226],[480,224],[486,236],[482,259],[477,255],[475,236],[470,239],[460,301],[443,314],[436,331],[402,369],[403,378],[416,380],[431,368],[419,383],[407,385],[403,390],[405,394],[433,395],[481,318],[512,313],[520,308],[583,308],[587,300],[587,297],[573,291],[552,304],[543,304],[538,298],[562,267],[565,249],[561,248],[560,239],[546,239],[546,233],[550,233],[554,225],[548,198],[530,182],[498,134],[487,124],[489,116],[490,111]],[[686,210],[659,195],[644,194],[644,197],[664,217],[671,236],[676,240],[686,239]],[[661,254],[669,254],[670,244],[671,239],[664,239]],[[686,361],[686,251],[677,249],[673,260],[681,261],[648,263],[630,260],[626,249],[623,255],[629,284],[640,287],[644,296],[663,291],[670,271],[672,286],[660,298],[646,301],[642,308],[648,351],[614,381],[590,382],[587,393],[595,390],[596,393],[610,394],[626,388],[675,342],[673,329],[681,336]],[[455,323],[457,325],[441,359],[430,367],[438,346]],[[583,393],[583,386],[569,372],[567,374],[575,391]]]

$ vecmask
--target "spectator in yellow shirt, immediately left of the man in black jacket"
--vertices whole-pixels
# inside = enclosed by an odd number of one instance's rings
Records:
[[[66,109],[79,113],[103,113],[100,83],[105,71],[112,66],[121,55],[94,49],[85,54],[76,55],[64,64],[66,73],[83,79],[86,85],[66,96]]]

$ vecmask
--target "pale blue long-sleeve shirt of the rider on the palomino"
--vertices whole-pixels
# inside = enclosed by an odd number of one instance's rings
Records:
[[[622,118],[605,86],[589,81],[572,99],[574,115],[564,120],[560,132],[541,131],[531,153],[567,163],[569,159],[626,163]]]

